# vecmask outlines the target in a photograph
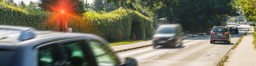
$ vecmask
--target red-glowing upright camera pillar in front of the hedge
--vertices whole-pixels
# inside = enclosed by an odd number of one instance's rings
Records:
[[[61,3],[60,10],[60,31],[67,32],[67,4]]]

